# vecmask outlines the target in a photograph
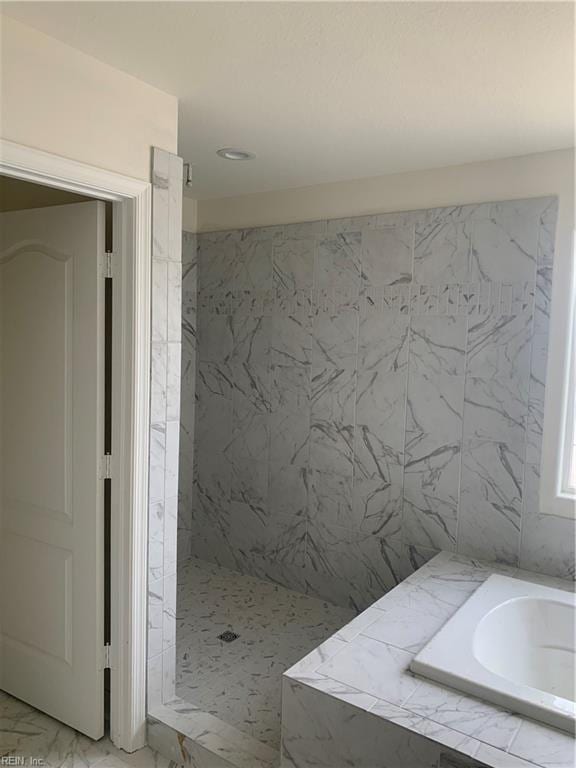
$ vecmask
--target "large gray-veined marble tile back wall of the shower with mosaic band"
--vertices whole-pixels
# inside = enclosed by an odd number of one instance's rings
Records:
[[[181,552],[356,608],[439,550],[573,575],[537,502],[556,211],[199,235]]]

